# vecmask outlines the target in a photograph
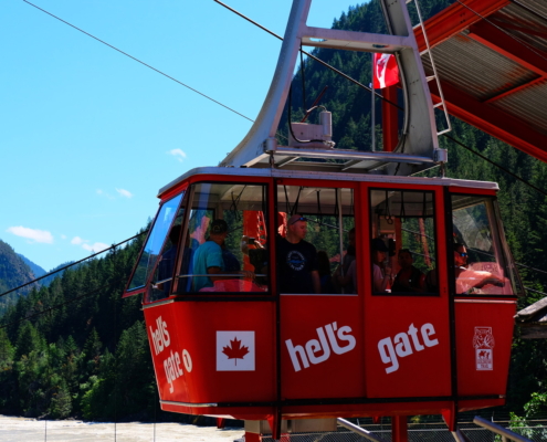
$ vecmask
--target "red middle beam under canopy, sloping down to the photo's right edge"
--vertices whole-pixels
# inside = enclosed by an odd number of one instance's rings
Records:
[[[547,60],[545,54],[537,50],[532,50],[517,41],[499,28],[482,21],[470,27],[469,38],[494,50],[498,54],[506,56],[519,65],[535,72],[538,75],[547,76]]]

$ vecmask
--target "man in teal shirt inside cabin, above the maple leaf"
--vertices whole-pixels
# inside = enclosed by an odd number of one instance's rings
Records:
[[[241,274],[244,277],[254,278],[253,272],[249,271],[227,271],[222,246],[228,236],[228,224],[224,220],[214,220],[211,223],[209,238],[201,244],[193,254],[193,291],[199,292],[202,288],[213,287],[214,281],[232,274]]]

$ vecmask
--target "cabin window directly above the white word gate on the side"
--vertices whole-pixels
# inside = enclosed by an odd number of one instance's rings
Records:
[[[433,192],[371,190],[375,294],[438,294]]]

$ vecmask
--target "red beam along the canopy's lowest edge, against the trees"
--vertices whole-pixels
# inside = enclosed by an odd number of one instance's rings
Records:
[[[481,103],[448,83],[443,83],[441,87],[451,115],[547,162],[547,151],[544,150],[547,146],[547,136],[538,133],[522,119]],[[431,97],[433,103],[440,102],[439,94],[434,90],[431,92]]]

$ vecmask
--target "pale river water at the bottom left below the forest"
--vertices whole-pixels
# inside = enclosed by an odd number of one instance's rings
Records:
[[[233,442],[243,429],[196,427],[183,423],[112,423],[39,421],[0,415],[0,442]]]

